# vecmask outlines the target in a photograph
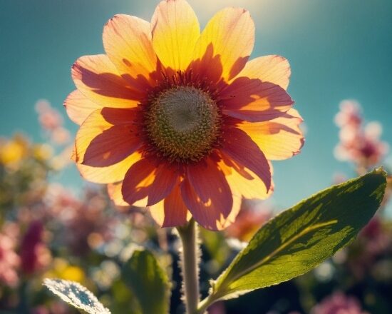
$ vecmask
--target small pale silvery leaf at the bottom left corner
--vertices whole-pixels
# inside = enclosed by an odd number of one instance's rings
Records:
[[[75,308],[84,310],[89,314],[110,314],[93,293],[74,281],[62,279],[43,280],[43,285],[58,295],[61,300],[73,305]]]

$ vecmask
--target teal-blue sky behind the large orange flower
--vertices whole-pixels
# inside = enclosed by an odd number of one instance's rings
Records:
[[[70,69],[86,54],[103,52],[103,24],[113,14],[150,19],[158,1],[0,0],[0,134],[24,131],[39,139],[34,103],[47,98],[63,111],[73,91]],[[383,123],[392,143],[391,0],[190,0],[204,25],[227,5],[249,9],[257,24],[252,56],[281,54],[292,65],[289,93],[306,121],[301,154],[274,163],[280,206],[329,186],[336,171],[333,118],[344,98],[356,98],[368,121]],[[73,132],[76,126],[67,121]],[[67,184],[81,185],[76,171]]]

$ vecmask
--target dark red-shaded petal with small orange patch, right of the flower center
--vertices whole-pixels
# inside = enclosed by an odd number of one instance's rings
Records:
[[[246,121],[267,121],[277,118],[294,101],[279,85],[259,79],[239,77],[221,92],[220,101],[227,116]]]

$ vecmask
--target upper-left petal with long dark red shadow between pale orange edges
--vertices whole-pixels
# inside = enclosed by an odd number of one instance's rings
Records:
[[[82,56],[73,64],[71,75],[84,96],[104,107],[132,108],[145,96],[129,86],[105,54]]]

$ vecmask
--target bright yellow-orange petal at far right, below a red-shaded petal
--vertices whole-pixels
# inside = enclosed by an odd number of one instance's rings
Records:
[[[279,118],[266,122],[243,122],[238,128],[245,131],[269,160],[290,158],[301,150],[304,136],[299,124],[301,116],[290,109]]]

